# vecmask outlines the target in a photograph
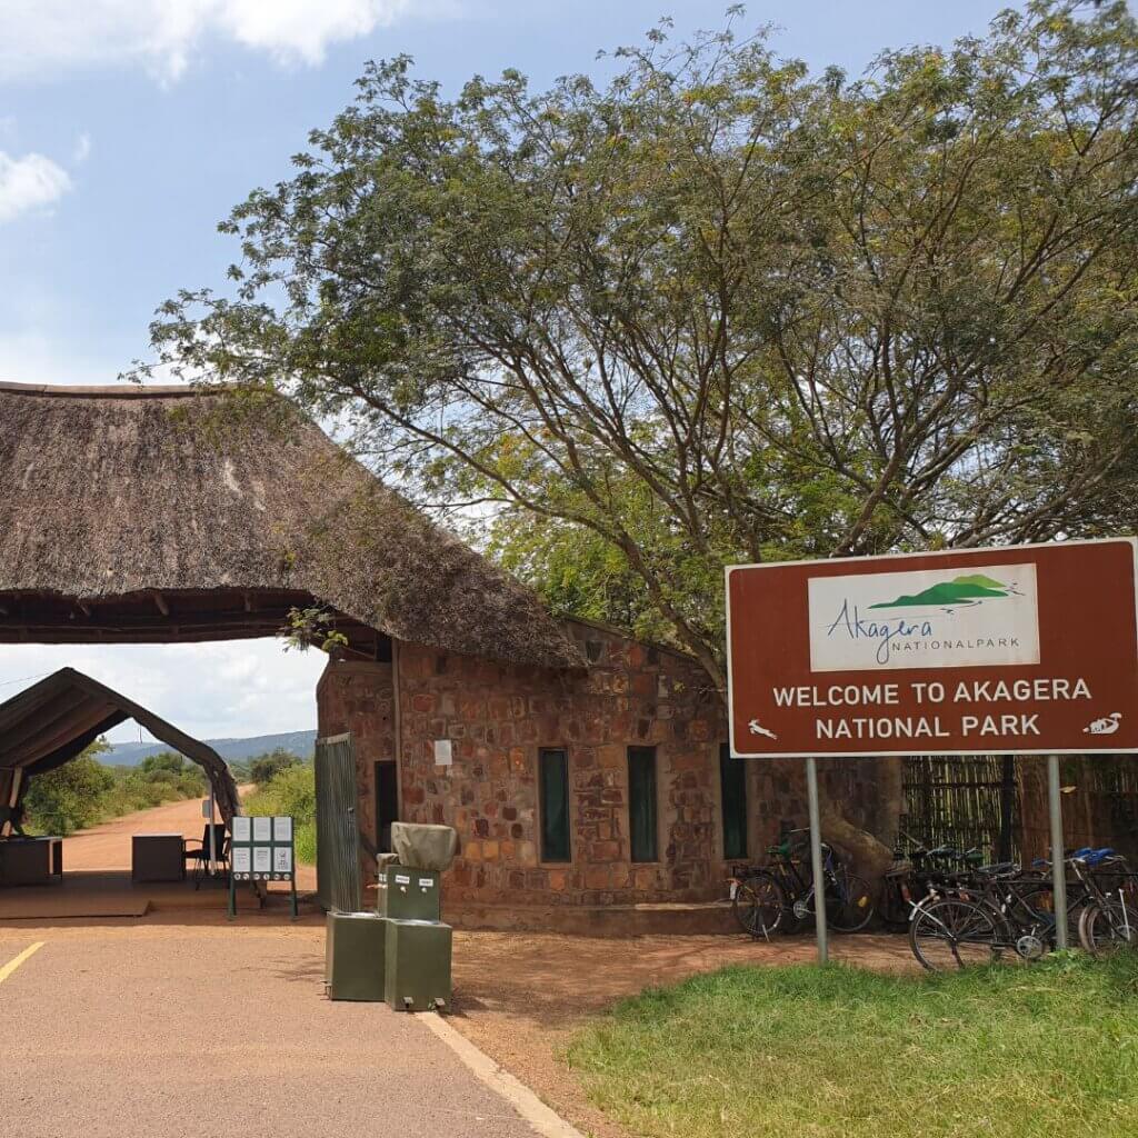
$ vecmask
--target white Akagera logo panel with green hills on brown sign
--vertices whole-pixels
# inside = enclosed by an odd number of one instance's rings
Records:
[[[815,577],[815,671],[1039,662],[1036,568]]]

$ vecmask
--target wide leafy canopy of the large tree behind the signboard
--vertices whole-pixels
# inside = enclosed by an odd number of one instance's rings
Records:
[[[720,683],[725,563],[1131,529],[1125,3],[1036,0],[856,81],[742,18],[661,26],[603,86],[369,66],[224,223],[232,295],[160,312],[162,364],[336,417]]]

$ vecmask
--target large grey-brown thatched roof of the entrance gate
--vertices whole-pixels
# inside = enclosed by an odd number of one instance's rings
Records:
[[[398,640],[583,662],[533,593],[277,396],[0,384],[0,594],[271,589]]]

